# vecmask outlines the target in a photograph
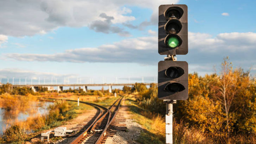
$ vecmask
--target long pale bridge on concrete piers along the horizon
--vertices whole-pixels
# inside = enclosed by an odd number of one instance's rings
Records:
[[[149,86],[152,83],[144,83],[145,85]],[[157,85],[157,83],[154,83]],[[79,86],[79,87],[83,87],[83,91],[87,92],[87,87],[88,86],[109,86],[109,92],[112,92],[112,86],[132,86],[135,85],[135,83],[122,83],[122,84],[118,84],[118,83],[104,83],[104,84],[27,84],[27,85],[20,85],[20,84],[15,84],[12,85],[12,87],[31,87],[32,90],[34,92],[36,92],[35,87],[47,87],[48,90],[50,90],[50,87],[57,87],[57,91],[63,91],[63,87],[75,87],[75,86]],[[0,84],[0,87],[2,86],[2,84]]]

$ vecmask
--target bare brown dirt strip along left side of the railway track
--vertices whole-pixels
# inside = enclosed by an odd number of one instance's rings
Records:
[[[85,125],[87,124],[92,117],[95,116],[97,110],[96,109],[92,109],[92,110],[88,110],[85,113],[80,114],[78,117],[69,120],[68,122],[65,123],[65,125],[61,125],[62,127],[67,127],[67,129],[71,129],[73,127],[76,127],[77,125]],[[53,131],[54,129],[50,129],[51,131]],[[43,132],[47,132],[50,130],[45,130]],[[40,143],[40,135],[37,135],[36,137],[30,139],[28,142],[26,142],[25,144],[38,144]],[[71,142],[74,138],[63,138],[61,140],[59,140],[58,142],[54,142],[54,143],[63,143],[65,141],[65,143],[67,142]],[[47,141],[47,139],[46,139]],[[50,140],[49,140],[50,142]],[[46,143],[46,142],[45,142]],[[51,142],[50,142],[51,143]]]

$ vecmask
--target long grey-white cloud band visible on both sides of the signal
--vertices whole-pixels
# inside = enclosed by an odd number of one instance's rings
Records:
[[[224,56],[242,53],[254,53],[256,48],[256,33],[220,33],[212,37],[206,33],[188,33],[189,57],[201,56],[211,61],[219,55]],[[2,54],[5,59],[19,61],[68,61],[73,63],[83,62],[109,62],[109,63],[140,63],[152,64],[161,57],[158,54],[158,38],[138,37],[124,39],[113,44],[101,45],[99,47],[84,47],[66,50],[56,54]],[[220,53],[221,52],[221,53]],[[213,57],[213,55],[215,55]],[[237,57],[237,56],[236,56]],[[253,56],[254,57],[254,56]],[[188,58],[188,57],[187,57]],[[248,57],[249,59],[250,57]],[[199,58],[196,58],[199,59]],[[195,60],[195,58],[191,58]],[[200,60],[201,61],[201,60]]]

